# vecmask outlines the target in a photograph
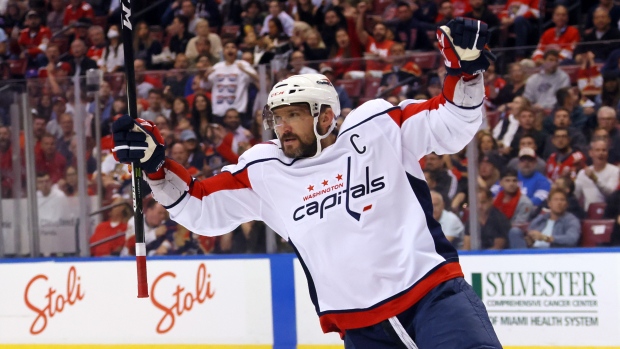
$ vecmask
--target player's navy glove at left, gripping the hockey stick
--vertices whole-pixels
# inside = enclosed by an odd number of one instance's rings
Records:
[[[150,121],[123,115],[112,124],[114,158],[121,163],[140,162],[147,175],[163,171],[164,139]]]

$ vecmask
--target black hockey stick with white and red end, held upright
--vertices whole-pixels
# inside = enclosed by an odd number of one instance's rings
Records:
[[[138,118],[136,106],[136,76],[133,68],[133,26],[131,23],[131,0],[121,0],[121,25],[123,26],[123,51],[125,54],[125,79],[127,85],[127,108],[129,116]],[[131,187],[133,193],[133,216],[136,231],[136,266],[138,270],[138,298],[148,298],[146,279],[146,243],[144,240],[144,216],[142,215],[142,168],[140,162],[132,164]]]

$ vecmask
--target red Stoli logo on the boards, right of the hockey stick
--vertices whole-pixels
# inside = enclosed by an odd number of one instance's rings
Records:
[[[196,273],[196,288],[195,293],[192,293],[190,290],[185,291],[185,287],[177,284],[175,291],[172,292],[171,297],[168,299],[172,300],[172,304],[165,305],[163,301],[160,301],[161,294],[157,293],[157,287],[160,286],[159,283],[164,281],[164,279],[175,279],[176,274],[170,271],[167,271],[161,275],[159,275],[155,281],[153,282],[153,286],[151,287],[151,302],[153,305],[164,312],[164,315],[159,320],[157,324],[157,333],[164,334],[174,327],[174,323],[176,320],[176,316],[181,316],[186,311],[192,310],[194,307],[194,303],[198,302],[198,304],[204,303],[207,299],[213,298],[215,295],[215,291],[211,291],[211,274],[207,274],[207,267],[204,263],[201,263],[198,267],[198,271]]]

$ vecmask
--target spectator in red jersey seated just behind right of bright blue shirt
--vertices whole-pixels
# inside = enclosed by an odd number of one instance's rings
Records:
[[[553,145],[557,149],[547,159],[547,177],[555,181],[559,177],[577,177],[577,172],[585,166],[585,155],[570,146],[568,129],[557,128],[553,132]]]

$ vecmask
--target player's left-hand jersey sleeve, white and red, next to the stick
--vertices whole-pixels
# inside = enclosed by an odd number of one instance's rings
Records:
[[[170,218],[200,235],[228,233],[239,224],[260,219],[260,198],[248,177],[245,160],[220,174],[198,181],[177,162],[166,159],[165,177],[146,178],[155,200]]]

